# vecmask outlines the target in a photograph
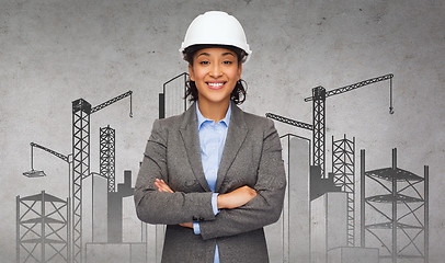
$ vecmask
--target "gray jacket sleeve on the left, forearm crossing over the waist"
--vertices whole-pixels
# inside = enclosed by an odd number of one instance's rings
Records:
[[[162,193],[155,186],[156,179],[163,179],[166,182],[169,180],[168,133],[161,121],[155,121],[135,185],[134,198],[138,218],[148,224],[166,225],[214,220],[212,192]]]

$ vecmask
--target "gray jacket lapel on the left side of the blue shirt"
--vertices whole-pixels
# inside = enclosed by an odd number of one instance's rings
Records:
[[[187,152],[189,163],[192,167],[196,180],[207,192],[210,192],[207,180],[204,175],[204,169],[201,161],[199,137],[197,133],[196,102],[193,103],[184,113],[184,118],[180,127],[182,140]]]

